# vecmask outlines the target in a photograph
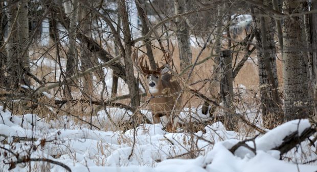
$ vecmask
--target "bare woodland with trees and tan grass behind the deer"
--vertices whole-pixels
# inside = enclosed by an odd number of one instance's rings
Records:
[[[196,107],[207,122],[235,130],[315,123],[315,3],[1,1],[0,104],[13,114],[78,117],[90,127],[83,117],[121,107],[136,117],[122,125],[150,123],[140,112],[147,98],[132,48],[155,69],[162,49],[175,47],[170,67],[183,110]]]

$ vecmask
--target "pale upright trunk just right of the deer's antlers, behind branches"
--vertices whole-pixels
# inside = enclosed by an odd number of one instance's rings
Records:
[[[185,0],[174,0],[175,15],[186,12]],[[192,50],[190,46],[189,26],[186,18],[178,17],[175,19],[177,24],[177,42],[179,50],[180,71],[185,69],[192,62]]]

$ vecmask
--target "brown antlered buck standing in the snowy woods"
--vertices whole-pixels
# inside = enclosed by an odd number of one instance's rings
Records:
[[[180,106],[179,100],[176,102],[176,99],[179,95],[177,92],[182,89],[179,82],[173,78],[173,75],[168,73],[169,70],[163,70],[165,65],[159,67],[159,63],[156,63],[156,69],[150,70],[145,60],[145,54],[138,57],[138,50],[139,48],[134,48],[132,51],[132,63],[145,78],[147,97],[152,97],[148,104],[151,109],[153,124],[160,123],[160,118],[166,116],[167,119],[170,119],[166,129],[170,131],[173,128],[173,118],[170,118],[170,114],[174,105],[176,105],[176,109]],[[171,52],[166,51],[167,53],[163,50],[166,64],[172,61],[173,51],[174,48],[172,48]]]

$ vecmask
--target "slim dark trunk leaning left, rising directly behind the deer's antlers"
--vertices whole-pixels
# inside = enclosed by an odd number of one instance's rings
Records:
[[[147,14],[144,11],[144,8],[141,7],[141,3],[139,0],[135,0],[135,5],[137,6],[139,17],[142,23],[142,35],[146,35],[149,32],[149,26],[147,25]],[[148,56],[150,66],[152,70],[156,69],[156,64],[154,60],[154,55],[151,47],[151,42],[149,38],[144,39],[145,47],[146,47],[146,55]]]

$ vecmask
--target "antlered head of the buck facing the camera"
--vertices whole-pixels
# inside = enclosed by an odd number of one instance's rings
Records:
[[[162,78],[163,75],[165,75],[168,70],[163,70],[165,68],[164,65],[161,67],[159,66],[159,63],[156,63],[156,69],[150,70],[149,66],[147,65],[147,62],[145,60],[145,54],[138,56],[138,50],[139,48],[134,48],[132,52],[132,62],[134,66],[144,75],[146,87],[148,88],[148,92],[151,95],[161,95],[162,91],[165,89],[162,82],[164,82],[164,78]],[[164,52],[164,60],[166,64],[169,64],[172,61],[172,55],[174,52],[174,47],[172,48],[172,51],[165,51]],[[144,64],[145,61],[145,64]]]

